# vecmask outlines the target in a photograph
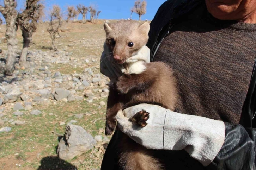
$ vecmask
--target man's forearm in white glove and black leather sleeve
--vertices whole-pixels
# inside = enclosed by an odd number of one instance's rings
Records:
[[[151,120],[144,128],[134,128],[128,118],[141,109],[150,113]],[[254,128],[246,129],[242,125],[175,113],[147,104],[120,111],[117,121],[124,133],[148,149],[184,149],[210,170],[255,169]]]

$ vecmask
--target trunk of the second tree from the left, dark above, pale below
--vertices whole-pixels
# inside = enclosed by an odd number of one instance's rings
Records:
[[[32,34],[29,33],[29,31],[26,30],[24,27],[21,30],[22,30],[22,37],[23,37],[23,49],[20,55],[19,65],[21,67],[24,66],[25,68],[29,68],[29,63],[27,62],[27,55],[28,55],[29,44],[31,43],[31,40],[32,40]]]

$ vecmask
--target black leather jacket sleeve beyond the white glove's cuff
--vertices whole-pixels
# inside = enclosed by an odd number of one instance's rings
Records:
[[[225,140],[209,170],[256,169],[256,129],[225,123]]]

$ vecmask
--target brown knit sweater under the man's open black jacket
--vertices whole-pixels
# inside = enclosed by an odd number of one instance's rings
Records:
[[[220,21],[205,7],[181,21],[154,58],[178,79],[176,111],[238,124],[256,57],[256,24]]]

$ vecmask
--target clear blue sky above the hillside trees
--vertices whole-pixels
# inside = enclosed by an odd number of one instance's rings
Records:
[[[3,0],[1,0],[3,1]],[[90,4],[97,5],[98,10],[102,11],[99,15],[100,19],[127,19],[130,17],[130,9],[134,5],[135,0],[43,0],[46,6],[46,10],[53,4],[58,4],[65,11],[68,5],[84,4],[89,6]],[[147,13],[141,17],[142,20],[151,20],[154,18],[159,6],[166,0],[146,0],[147,1]],[[25,0],[17,0],[18,7],[24,8]],[[80,17],[81,18],[81,15]],[[133,19],[138,19],[137,14],[133,14]]]

